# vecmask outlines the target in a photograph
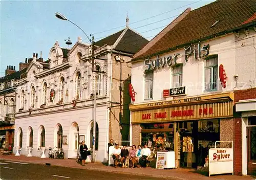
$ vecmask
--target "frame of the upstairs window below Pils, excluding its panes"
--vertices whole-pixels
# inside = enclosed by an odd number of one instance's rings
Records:
[[[214,64],[212,63],[211,65],[206,65],[206,61],[209,61],[209,60],[216,60],[217,63],[214,63]],[[206,70],[207,69],[210,70],[210,82],[206,82]],[[214,77],[215,70],[216,70],[216,75],[215,75],[216,77]],[[214,82],[214,78],[216,78],[215,82]],[[214,83],[216,84],[215,87],[214,87]],[[208,88],[209,84],[210,84],[210,88]],[[204,61],[204,91],[205,92],[218,91],[218,56],[217,55],[213,55],[213,56],[205,58],[205,61]]]

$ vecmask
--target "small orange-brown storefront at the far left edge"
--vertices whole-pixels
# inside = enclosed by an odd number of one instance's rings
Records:
[[[12,150],[14,145],[14,125],[0,126],[0,149]]]

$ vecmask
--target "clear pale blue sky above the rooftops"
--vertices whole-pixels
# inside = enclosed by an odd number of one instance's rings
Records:
[[[48,59],[56,40],[68,48],[80,36],[87,37],[69,21],[55,17],[56,12],[65,15],[95,41],[125,28],[126,14],[129,27],[151,40],[186,8],[197,9],[215,0],[184,1],[5,1],[0,2],[0,77],[5,76],[7,65],[25,62],[33,53],[42,51]],[[72,46],[71,45],[71,46]],[[70,47],[71,47],[70,46]],[[69,48],[70,48],[69,47]]]

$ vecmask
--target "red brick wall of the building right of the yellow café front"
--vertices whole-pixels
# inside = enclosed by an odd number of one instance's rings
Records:
[[[234,91],[234,103],[255,98],[256,88]],[[234,117],[234,174],[242,175],[242,119],[235,111]]]

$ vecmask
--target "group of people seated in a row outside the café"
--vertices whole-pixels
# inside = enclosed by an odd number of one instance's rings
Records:
[[[142,149],[141,145],[138,145],[138,149],[136,150],[136,146],[133,145],[132,149],[129,150],[126,146],[123,146],[122,149],[119,148],[119,145],[116,144],[113,150],[113,160],[115,161],[114,167],[117,167],[118,163],[122,163],[123,165],[127,165],[129,167],[146,167],[148,158],[150,158],[151,150],[147,147],[147,144],[144,145]],[[125,166],[122,166],[125,167]]]

